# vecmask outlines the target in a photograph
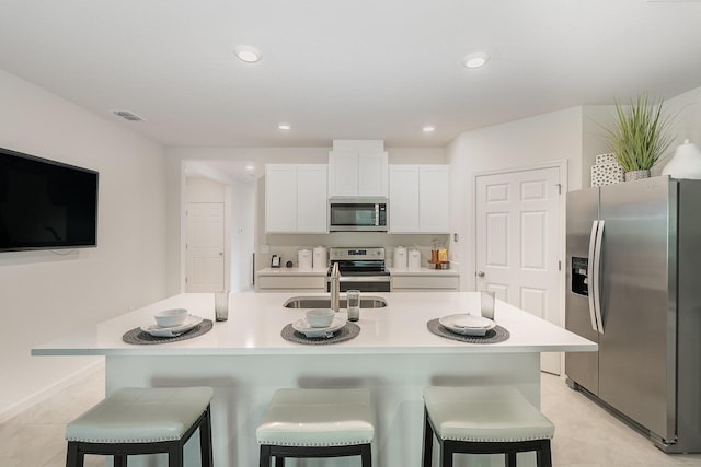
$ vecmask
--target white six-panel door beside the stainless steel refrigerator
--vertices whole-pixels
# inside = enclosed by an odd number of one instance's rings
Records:
[[[476,289],[558,326],[561,323],[560,168],[476,177]],[[561,373],[561,354],[541,367]]]

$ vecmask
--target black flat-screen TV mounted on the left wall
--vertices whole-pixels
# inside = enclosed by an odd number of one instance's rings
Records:
[[[0,252],[96,246],[97,178],[0,148]]]

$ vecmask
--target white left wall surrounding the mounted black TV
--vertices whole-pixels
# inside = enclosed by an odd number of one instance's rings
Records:
[[[100,172],[96,248],[0,253],[2,420],[100,360],[33,346],[164,296],[165,166],[160,145],[1,70],[0,102],[0,147]]]

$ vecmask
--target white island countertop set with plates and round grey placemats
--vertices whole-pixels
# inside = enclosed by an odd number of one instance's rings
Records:
[[[85,326],[69,336],[32,349],[33,355],[243,355],[243,354],[358,354],[358,353],[496,353],[595,351],[597,345],[544,322],[505,302],[497,301],[495,322],[510,332],[499,343],[464,343],[432,334],[426,323],[456,314],[479,314],[475,292],[367,293],[382,296],[384,308],[363,308],[357,323],[360,334],[334,345],[301,345],[281,338],[287,324],[303,317],[304,310],[288,310],[283,303],[294,293],[235,293],[230,296],[229,319],[214,323],[199,337],[159,345],[129,345],[122,336],[153,324],[156,312],[185,307],[192,315],[214,320],[214,294],[186,293],[165,299],[116,318]],[[310,293],[304,296],[327,296]],[[342,311],[343,313],[343,311]]]

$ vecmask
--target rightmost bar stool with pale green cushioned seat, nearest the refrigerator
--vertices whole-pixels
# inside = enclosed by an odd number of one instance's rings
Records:
[[[550,440],[555,428],[514,387],[438,387],[424,389],[423,467],[430,467],[434,433],[440,466],[452,456],[504,454],[516,467],[516,453],[536,452],[538,467],[551,467]]]

